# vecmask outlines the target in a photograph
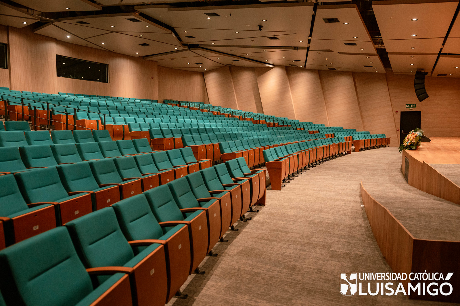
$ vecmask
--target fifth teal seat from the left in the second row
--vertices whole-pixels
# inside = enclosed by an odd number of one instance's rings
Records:
[[[133,178],[141,180],[142,191],[160,186],[159,175],[157,173],[142,174],[133,156],[115,158],[114,162],[118,173],[124,181]]]

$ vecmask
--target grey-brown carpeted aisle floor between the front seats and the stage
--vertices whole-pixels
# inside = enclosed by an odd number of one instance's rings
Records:
[[[229,242],[213,249],[219,256],[202,262],[206,274],[189,277],[182,288],[189,298],[169,304],[454,305],[339,292],[341,272],[391,272],[361,206],[360,183],[384,198],[382,187],[406,184],[400,166],[397,148],[368,150],[314,167],[281,191],[267,190],[267,205],[248,214],[253,220],[238,223],[239,231],[227,233]],[[414,203],[425,201],[431,199]]]

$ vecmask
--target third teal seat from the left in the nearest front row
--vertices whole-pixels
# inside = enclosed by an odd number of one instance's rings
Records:
[[[121,231],[128,241],[138,240],[135,250],[144,250],[145,243],[161,243],[166,251],[168,295],[167,300],[180,293],[190,272],[190,238],[187,225],[178,224],[163,232],[163,228],[153,215],[144,194],[135,195],[112,205]]]

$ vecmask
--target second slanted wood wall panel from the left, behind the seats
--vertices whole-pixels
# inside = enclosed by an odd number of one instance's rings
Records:
[[[236,101],[242,111],[263,112],[253,67],[230,67]]]

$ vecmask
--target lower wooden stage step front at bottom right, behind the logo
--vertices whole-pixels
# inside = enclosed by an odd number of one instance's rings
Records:
[[[393,214],[379,202],[377,202],[361,182],[361,197],[364,210],[369,220],[375,240],[379,245],[382,255],[395,273],[454,273],[449,279],[453,291],[450,295],[418,295],[415,290],[411,291],[409,298],[417,300],[436,300],[444,302],[460,302],[460,241],[443,241],[415,238],[397,220]],[[408,277],[409,278],[409,277]],[[419,281],[400,281],[404,288],[408,288],[408,282],[416,286]],[[439,288],[445,281],[421,280],[420,284],[426,286],[436,283]]]

